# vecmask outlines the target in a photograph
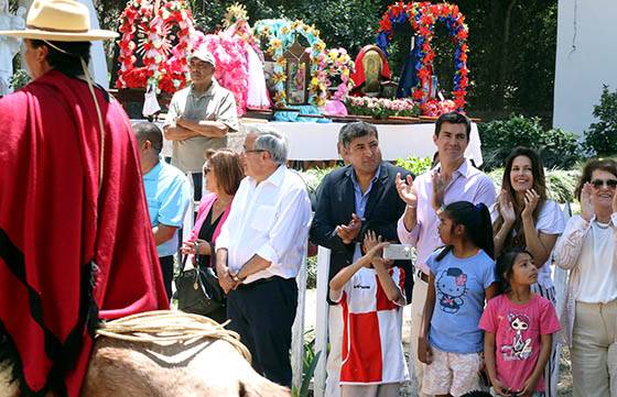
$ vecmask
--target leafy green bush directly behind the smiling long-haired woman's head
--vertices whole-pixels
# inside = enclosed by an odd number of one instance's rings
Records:
[[[504,166],[510,151],[528,146],[540,153],[544,167],[570,168],[581,158],[576,135],[561,129],[545,131],[540,118],[512,114],[508,120],[478,124],[485,169]]]

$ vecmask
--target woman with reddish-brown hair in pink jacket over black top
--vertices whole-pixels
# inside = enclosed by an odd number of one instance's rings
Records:
[[[182,244],[182,253],[192,255],[193,264],[214,267],[216,239],[227,220],[234,195],[245,177],[240,156],[228,150],[216,151],[204,164],[210,194],[202,199],[191,240]],[[225,307],[209,313],[213,320],[226,320]]]

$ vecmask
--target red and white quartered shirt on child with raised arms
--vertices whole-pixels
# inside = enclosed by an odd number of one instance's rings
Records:
[[[345,285],[343,307],[340,384],[377,385],[409,379],[402,346],[402,312],[405,305],[404,271],[389,271],[402,298],[388,299],[377,272],[362,267]],[[332,298],[336,298],[331,294]]]

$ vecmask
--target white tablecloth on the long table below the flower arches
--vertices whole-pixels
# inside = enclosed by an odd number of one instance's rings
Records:
[[[278,131],[285,134],[290,143],[289,159],[337,159],[336,142],[343,123],[288,123],[271,122]],[[376,124],[379,132],[379,146],[383,159],[393,161],[409,156],[433,157],[436,146],[433,143],[434,123],[425,124]],[[240,150],[238,133],[230,134],[232,150]],[[171,156],[171,142],[164,143],[163,155]],[[465,156],[481,165],[480,137],[478,126],[472,123],[472,136]]]

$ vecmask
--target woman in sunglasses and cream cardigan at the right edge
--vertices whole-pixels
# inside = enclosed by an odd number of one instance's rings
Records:
[[[570,271],[565,335],[574,396],[617,395],[617,162],[587,162],[576,188],[581,216],[558,242],[555,264]]]

